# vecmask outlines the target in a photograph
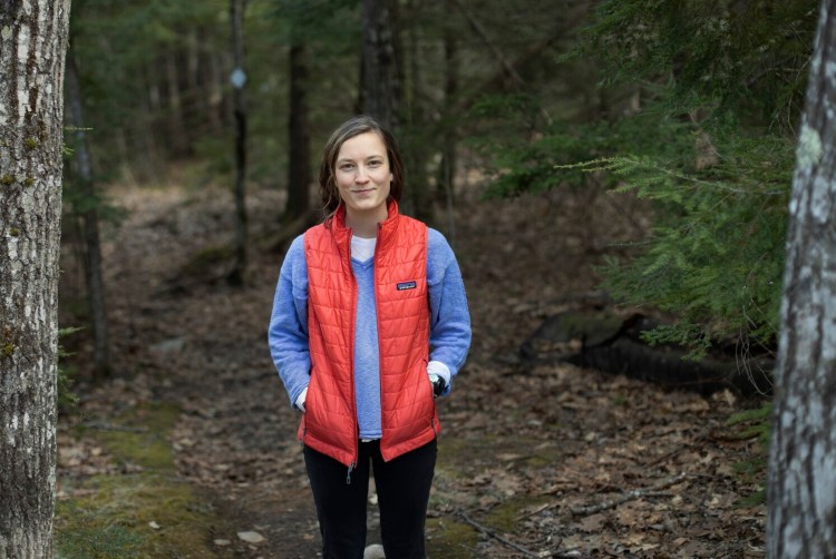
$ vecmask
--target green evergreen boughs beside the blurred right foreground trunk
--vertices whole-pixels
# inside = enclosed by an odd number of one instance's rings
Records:
[[[726,340],[775,346],[813,6],[602,1],[565,63],[595,60],[605,87],[533,141],[495,150],[511,169],[495,194],[594,188],[603,176],[652,200],[649,238],[604,274],[618,298],[679,317],[657,342],[694,355]]]

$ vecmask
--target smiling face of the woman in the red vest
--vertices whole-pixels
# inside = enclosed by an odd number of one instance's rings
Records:
[[[380,136],[368,131],[347,139],[337,154],[334,180],[350,217],[386,219],[392,173]]]

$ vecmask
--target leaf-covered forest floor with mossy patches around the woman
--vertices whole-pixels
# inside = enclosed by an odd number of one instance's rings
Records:
[[[241,288],[224,280],[225,190],[111,195],[128,210],[104,255],[115,377],[79,384],[59,421],[61,556],[317,557],[299,415],[266,346],[281,195],[250,194]],[[454,241],[474,343],[439,401],[430,557],[764,556],[765,507],[745,504],[762,489],[746,470],[764,451],[746,424],[726,425],[757,402],[517,359],[545,317],[595,288],[593,266],[641,233],[641,215],[603,194],[461,195]],[[72,551],[85,546],[97,555]]]

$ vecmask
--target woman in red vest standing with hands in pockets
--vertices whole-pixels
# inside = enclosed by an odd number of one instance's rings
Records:
[[[373,471],[386,557],[424,558],[435,396],[470,345],[461,273],[440,233],[398,213],[401,156],[375,119],[331,135],[319,180],[325,218],[288,251],[269,337],[302,412],[323,557],[362,557]]]

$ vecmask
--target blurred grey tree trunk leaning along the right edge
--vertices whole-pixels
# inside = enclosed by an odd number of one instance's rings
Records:
[[[822,4],[789,205],[767,557],[836,557],[836,0]]]

